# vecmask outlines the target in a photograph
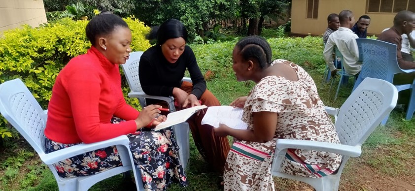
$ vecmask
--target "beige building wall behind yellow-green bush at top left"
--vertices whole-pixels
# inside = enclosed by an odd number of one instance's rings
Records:
[[[0,33],[23,24],[47,23],[43,0],[0,0]]]

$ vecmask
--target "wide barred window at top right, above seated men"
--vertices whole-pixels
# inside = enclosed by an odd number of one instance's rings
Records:
[[[368,13],[415,12],[415,0],[368,0]]]

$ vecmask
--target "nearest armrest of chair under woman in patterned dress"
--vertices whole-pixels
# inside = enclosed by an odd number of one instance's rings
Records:
[[[284,149],[305,149],[313,151],[324,151],[329,153],[346,155],[350,157],[359,157],[362,153],[362,149],[360,146],[349,146],[320,141],[278,139],[276,142],[276,153]]]

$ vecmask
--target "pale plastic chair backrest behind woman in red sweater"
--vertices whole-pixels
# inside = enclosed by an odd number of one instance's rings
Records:
[[[0,84],[0,112],[39,155],[44,155],[47,115],[22,80]]]

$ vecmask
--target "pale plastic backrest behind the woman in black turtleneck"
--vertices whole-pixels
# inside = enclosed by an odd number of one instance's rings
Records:
[[[143,92],[140,84],[140,79],[138,77],[138,65],[140,63],[140,58],[143,52],[132,52],[130,53],[130,58],[125,62],[125,64],[120,64],[125,76],[127,78],[128,86],[132,92]]]

